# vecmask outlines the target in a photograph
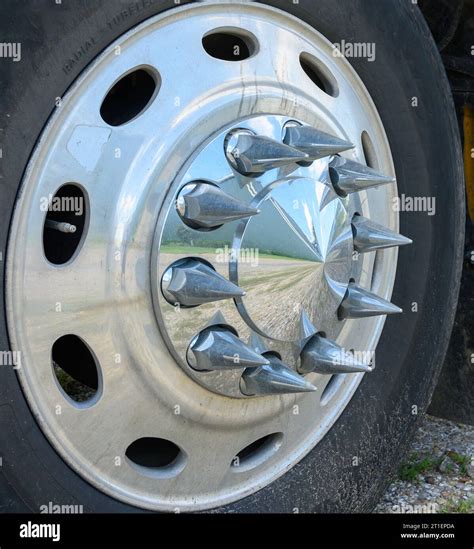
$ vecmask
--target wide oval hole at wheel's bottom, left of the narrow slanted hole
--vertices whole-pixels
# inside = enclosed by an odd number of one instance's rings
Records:
[[[153,477],[173,477],[186,465],[183,450],[165,438],[139,438],[130,444],[125,455],[137,471]]]

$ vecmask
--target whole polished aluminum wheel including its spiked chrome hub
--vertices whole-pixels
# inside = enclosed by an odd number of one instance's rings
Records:
[[[235,58],[212,49],[222,37]],[[141,108],[117,100],[130,80],[149,90]],[[216,507],[284,474],[401,312],[396,196],[367,90],[285,12],[183,6],[112,44],[44,131],[8,252],[19,377],[58,452],[157,510]],[[79,401],[57,375],[68,349],[92,364],[76,369],[93,386]]]

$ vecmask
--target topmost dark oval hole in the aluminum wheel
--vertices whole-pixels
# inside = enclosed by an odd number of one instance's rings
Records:
[[[222,61],[244,61],[258,50],[257,39],[242,29],[215,29],[202,39],[206,52]]]

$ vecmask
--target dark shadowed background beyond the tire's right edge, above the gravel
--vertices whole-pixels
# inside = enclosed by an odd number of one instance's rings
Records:
[[[461,136],[464,116],[474,109],[474,0],[420,0],[453,90]],[[465,164],[474,162],[470,150]],[[466,172],[466,247],[456,322],[429,412],[474,425],[474,181]],[[469,216],[471,212],[471,217]]]

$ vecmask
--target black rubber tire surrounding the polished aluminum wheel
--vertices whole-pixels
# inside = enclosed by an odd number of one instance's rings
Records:
[[[221,510],[369,510],[428,405],[453,324],[464,231],[454,108],[435,44],[410,1],[265,3],[300,17],[333,42],[376,44],[375,62],[350,61],[382,117],[400,193],[434,196],[437,211],[432,217],[401,216],[401,232],[415,242],[401,250],[393,296],[406,312],[388,319],[375,372],[365,376],[343,415],[305,459],[270,486]],[[21,62],[0,60],[3,257],[22,174],[55,98],[108,44],[174,6],[173,0],[76,0],[59,5],[2,1],[2,40],[22,43]],[[417,107],[412,106],[413,97],[418,98]],[[412,312],[413,302],[418,312]],[[0,349],[8,349],[4,315]],[[83,505],[85,512],[135,510],[93,488],[65,464],[36,424],[14,371],[5,366],[0,367],[0,451],[3,511],[38,511],[48,502]]]

